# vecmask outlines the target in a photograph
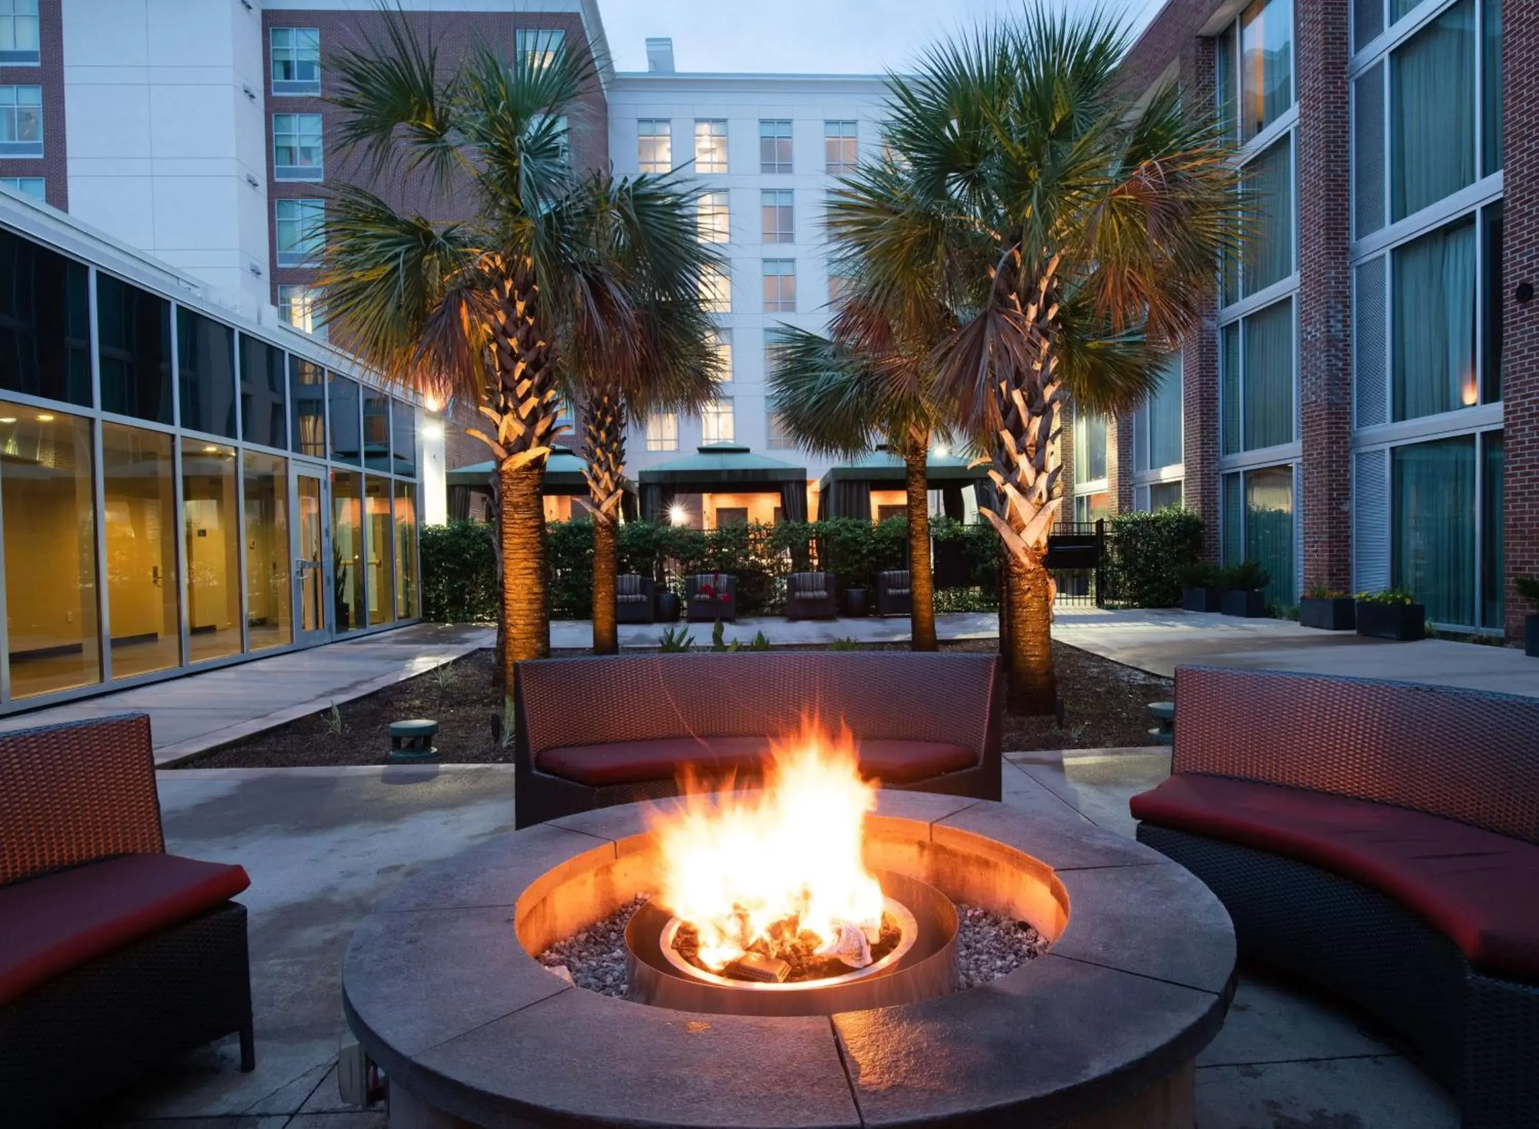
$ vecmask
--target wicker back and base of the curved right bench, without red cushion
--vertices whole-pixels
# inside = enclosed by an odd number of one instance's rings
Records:
[[[1539,841],[1539,701],[1370,679],[1182,667],[1174,773],[1371,799]],[[1202,878],[1244,956],[1356,1003],[1459,1098],[1465,1129],[1539,1126],[1539,984],[1473,969],[1394,898],[1313,864],[1139,824]]]

